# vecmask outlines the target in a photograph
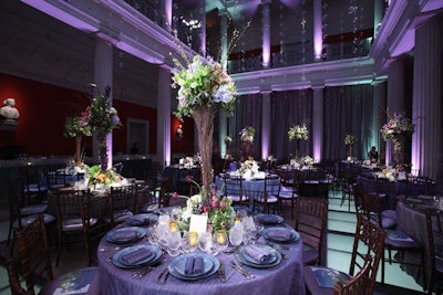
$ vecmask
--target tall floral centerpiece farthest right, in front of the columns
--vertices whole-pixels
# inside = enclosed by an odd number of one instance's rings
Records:
[[[401,167],[404,165],[404,136],[413,134],[415,124],[402,114],[394,114],[389,122],[380,129],[383,139],[387,141],[392,139],[394,144],[395,165]]]

